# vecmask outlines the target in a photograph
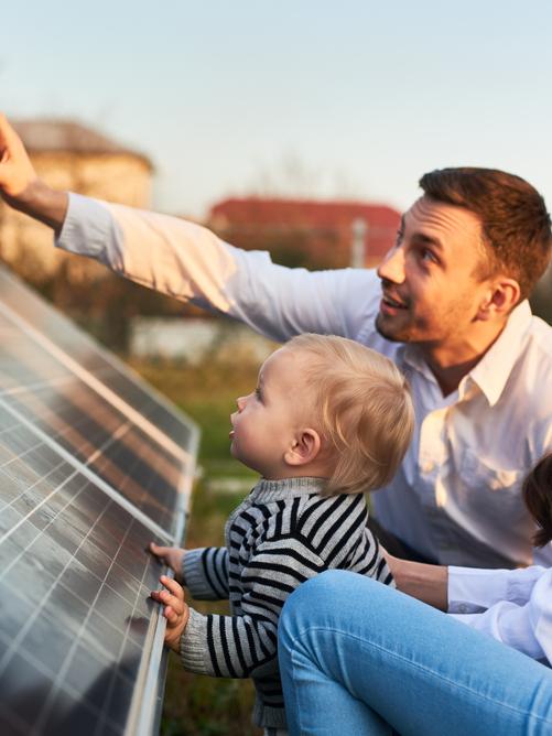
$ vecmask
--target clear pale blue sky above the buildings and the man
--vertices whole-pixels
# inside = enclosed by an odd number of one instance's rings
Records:
[[[152,158],[154,205],[230,194],[408,207],[489,165],[552,207],[550,0],[2,4],[0,108],[75,117]]]

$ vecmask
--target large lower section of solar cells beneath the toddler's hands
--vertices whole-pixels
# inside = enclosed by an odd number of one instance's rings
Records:
[[[152,533],[2,407],[0,425],[0,733],[121,734],[156,617]]]

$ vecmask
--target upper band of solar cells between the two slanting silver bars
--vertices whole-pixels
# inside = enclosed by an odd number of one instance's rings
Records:
[[[0,396],[170,535],[182,462],[0,314]]]

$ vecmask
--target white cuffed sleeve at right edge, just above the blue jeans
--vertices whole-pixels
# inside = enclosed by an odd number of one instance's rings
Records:
[[[454,618],[552,662],[552,569],[448,572],[448,611]]]

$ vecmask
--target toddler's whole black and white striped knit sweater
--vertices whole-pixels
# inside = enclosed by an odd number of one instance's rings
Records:
[[[324,570],[350,570],[392,584],[362,494],[321,496],[320,478],[261,479],[230,515],[226,548],[184,555],[192,595],[230,599],[231,616],[191,609],[181,640],[184,667],[223,678],[252,678],[255,723],[284,727],[277,628],[285,598]]]

